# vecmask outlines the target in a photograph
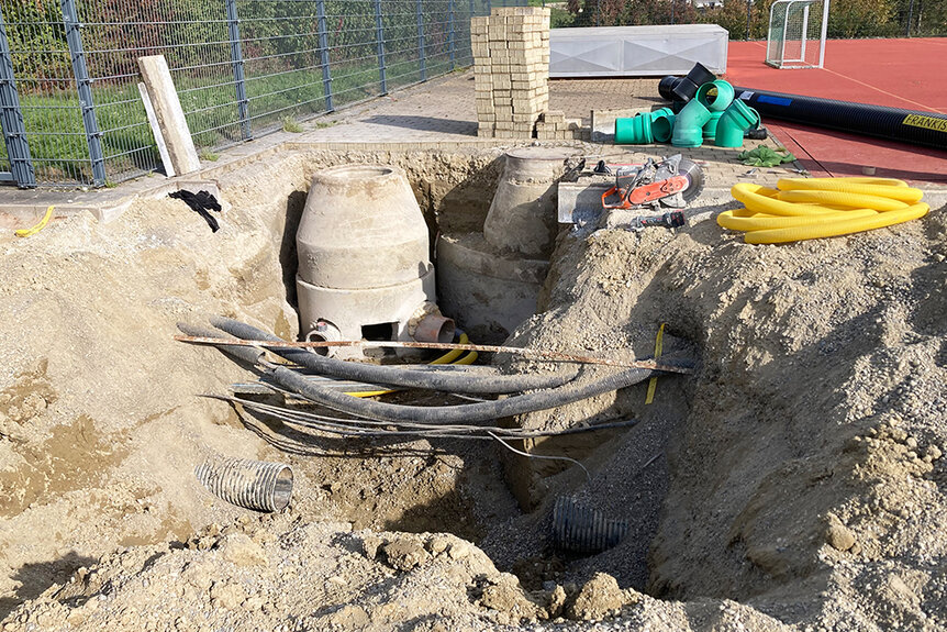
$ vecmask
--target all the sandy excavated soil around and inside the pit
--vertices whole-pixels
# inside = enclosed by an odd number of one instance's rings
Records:
[[[436,225],[482,221],[495,157],[346,158],[412,166]],[[333,159],[224,179],[216,234],[160,200],[0,241],[3,630],[944,628],[943,209],[751,246],[706,221],[727,204],[708,197],[677,233],[560,234],[545,311],[514,342],[647,356],[667,322],[668,346],[700,363],[648,407],[639,385],[516,420],[640,419],[527,446],[581,457],[587,480],[481,444],[326,441],[196,397],[253,376],[175,343],[175,322],[296,333],[286,235]],[[193,478],[209,454],[290,463],[293,505],[214,499]],[[564,494],[631,534],[553,552]]]

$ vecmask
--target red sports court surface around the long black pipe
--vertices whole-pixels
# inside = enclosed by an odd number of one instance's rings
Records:
[[[947,114],[947,37],[829,40],[825,67],[767,66],[766,42],[731,42],[726,79],[734,86]],[[823,127],[765,120],[813,175],[876,175],[947,185],[947,151]]]

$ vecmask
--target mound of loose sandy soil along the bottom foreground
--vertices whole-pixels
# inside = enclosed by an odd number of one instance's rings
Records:
[[[287,512],[211,524],[185,543],[141,546],[79,568],[4,630],[516,630],[555,619],[639,622],[740,619],[781,627],[748,608],[686,611],[597,575],[525,592],[479,548],[454,535],[352,531]],[[615,620],[617,621],[617,620]],[[665,628],[662,628],[665,629]]]

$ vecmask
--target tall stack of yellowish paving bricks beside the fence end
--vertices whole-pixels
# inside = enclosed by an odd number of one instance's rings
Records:
[[[511,7],[470,21],[477,133],[530,138],[549,104],[549,9]]]

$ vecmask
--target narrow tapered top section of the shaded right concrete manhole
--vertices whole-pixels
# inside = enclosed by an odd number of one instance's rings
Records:
[[[504,253],[547,258],[556,241],[556,184],[576,149],[523,147],[506,153],[506,166],[490,204],[483,236]]]

